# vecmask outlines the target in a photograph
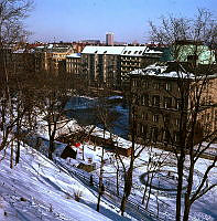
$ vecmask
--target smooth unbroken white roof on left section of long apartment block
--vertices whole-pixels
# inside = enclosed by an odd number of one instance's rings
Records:
[[[85,46],[83,54],[121,54],[124,46]]]

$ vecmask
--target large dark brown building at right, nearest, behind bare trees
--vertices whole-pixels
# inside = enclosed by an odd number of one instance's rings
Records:
[[[217,75],[206,76],[206,80],[204,76],[200,81],[196,81],[193,74],[169,70],[167,65],[154,64],[129,74],[132,104],[130,120],[132,125],[133,115],[137,125],[135,134],[140,143],[151,140],[159,144],[178,144],[181,105],[184,110],[182,124],[185,124],[191,115],[191,105],[194,103],[192,88],[196,86],[195,84],[200,86],[204,82],[206,87],[200,97],[198,124],[203,131],[217,129]],[[181,82],[184,85],[182,92]],[[182,104],[181,93],[188,94]],[[195,140],[197,138],[195,137]]]

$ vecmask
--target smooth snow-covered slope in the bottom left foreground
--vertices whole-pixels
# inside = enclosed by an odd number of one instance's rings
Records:
[[[0,161],[1,221],[110,220],[93,209],[96,203],[94,193],[30,147],[22,147],[21,161],[13,169],[8,151]]]

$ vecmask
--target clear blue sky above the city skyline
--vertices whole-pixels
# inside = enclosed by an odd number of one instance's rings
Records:
[[[77,41],[115,33],[115,41],[144,43],[148,21],[161,15],[194,17],[198,8],[215,15],[217,0],[35,0],[26,20],[31,41]]]

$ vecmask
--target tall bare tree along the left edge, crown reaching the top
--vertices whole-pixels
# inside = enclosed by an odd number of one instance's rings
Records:
[[[1,0],[0,1],[0,125],[2,140],[0,150],[8,147],[14,139],[13,129],[19,126],[20,116],[14,109],[14,91],[11,90],[9,73],[13,73],[11,65],[12,43],[20,41],[26,31],[23,28],[23,19],[30,11],[33,1],[26,0]],[[18,110],[18,109],[17,109]]]

